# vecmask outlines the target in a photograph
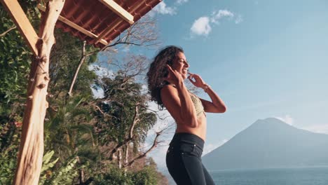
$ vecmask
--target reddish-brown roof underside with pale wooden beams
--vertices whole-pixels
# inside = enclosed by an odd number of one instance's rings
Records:
[[[103,48],[161,0],[66,0],[56,27]],[[45,8],[38,6],[41,11]]]

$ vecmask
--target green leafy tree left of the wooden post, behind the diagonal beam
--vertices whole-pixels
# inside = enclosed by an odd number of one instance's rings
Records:
[[[23,8],[33,25],[39,22],[38,14],[31,11],[35,2],[22,1]],[[11,143],[15,135],[15,123],[22,123],[25,108],[27,76],[31,64],[31,52],[15,28],[15,24],[0,5],[0,148]]]

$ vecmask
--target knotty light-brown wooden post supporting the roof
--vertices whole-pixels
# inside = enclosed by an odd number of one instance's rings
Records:
[[[37,185],[39,182],[43,158],[43,121],[48,108],[46,95],[50,80],[48,74],[50,50],[55,43],[53,36],[55,23],[63,6],[64,0],[48,1],[47,11],[41,20],[39,40],[36,43],[38,55],[32,62],[29,73],[27,107],[13,184]]]

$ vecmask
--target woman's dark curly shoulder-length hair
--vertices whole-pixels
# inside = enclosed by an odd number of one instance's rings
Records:
[[[160,89],[168,84],[167,81],[163,80],[168,75],[166,64],[172,66],[173,60],[179,52],[184,53],[184,50],[177,46],[166,46],[158,52],[147,72],[148,93],[151,95],[151,100],[155,101],[161,109],[164,106],[160,99]]]

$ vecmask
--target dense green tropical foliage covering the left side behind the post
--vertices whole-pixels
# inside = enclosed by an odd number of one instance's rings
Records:
[[[35,8],[36,2],[29,0],[20,4],[37,30],[40,14]],[[33,58],[3,6],[0,6],[0,19],[0,184],[11,184],[20,143],[29,64]],[[117,59],[115,66],[119,69],[113,70],[111,76],[100,78],[89,70],[89,65],[97,62],[99,49],[86,46],[86,53],[90,55],[78,71],[73,94],[67,95],[81,59],[83,41],[57,29],[55,37],[39,184],[158,184],[165,181],[156,170],[156,163],[144,157],[144,151],[140,150],[147,132],[157,121],[156,114],[149,111],[149,98],[140,80],[148,60],[135,55]],[[114,46],[119,42],[118,39]],[[102,54],[111,55],[110,49]],[[111,65],[109,62],[107,67]],[[91,88],[103,90],[104,96],[94,97]]]

